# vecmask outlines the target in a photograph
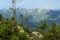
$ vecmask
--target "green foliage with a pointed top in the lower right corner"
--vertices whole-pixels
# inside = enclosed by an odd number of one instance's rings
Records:
[[[44,33],[44,40],[60,40],[60,30],[55,22],[53,22],[51,28]]]

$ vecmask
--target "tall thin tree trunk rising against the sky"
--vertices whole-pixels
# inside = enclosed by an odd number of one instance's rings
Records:
[[[14,33],[17,32],[17,20],[16,20],[16,0],[12,0],[12,11],[13,11],[13,18],[15,22]]]

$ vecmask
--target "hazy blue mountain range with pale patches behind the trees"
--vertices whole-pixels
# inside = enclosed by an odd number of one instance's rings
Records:
[[[0,13],[4,16],[4,18],[10,18],[13,16],[13,12],[10,9],[0,10]],[[22,14],[25,19],[28,17],[28,22],[24,21],[24,25],[28,24],[32,27],[35,24],[40,23],[42,20],[47,20],[48,23],[52,21],[56,21],[57,24],[60,24],[60,10],[48,10],[48,9],[17,9],[16,10],[16,18],[20,21],[20,14]]]

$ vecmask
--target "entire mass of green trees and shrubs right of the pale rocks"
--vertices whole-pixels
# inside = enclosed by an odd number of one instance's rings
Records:
[[[36,31],[42,33],[43,40],[60,40],[60,27],[55,22],[51,24],[48,25],[46,21],[43,21],[42,24],[37,25]],[[51,27],[48,28],[48,26]]]

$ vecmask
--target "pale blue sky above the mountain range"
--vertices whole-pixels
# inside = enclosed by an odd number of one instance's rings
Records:
[[[17,7],[32,9],[60,9],[60,0],[23,0],[17,3]],[[0,0],[0,9],[8,9],[11,7],[11,0]]]

